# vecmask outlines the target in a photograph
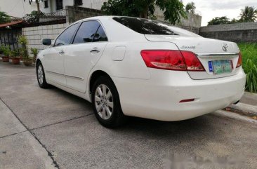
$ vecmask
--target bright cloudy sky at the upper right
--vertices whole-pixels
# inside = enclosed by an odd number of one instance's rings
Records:
[[[202,26],[215,17],[227,16],[228,18],[239,19],[241,9],[244,6],[255,6],[257,0],[183,0],[183,4],[195,2],[196,13],[202,15]]]

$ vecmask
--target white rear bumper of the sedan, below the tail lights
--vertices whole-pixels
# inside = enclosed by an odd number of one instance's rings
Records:
[[[192,80],[187,72],[150,69],[151,79],[114,78],[121,108],[128,116],[180,121],[223,109],[240,100],[246,75]],[[180,100],[192,99],[193,102]]]

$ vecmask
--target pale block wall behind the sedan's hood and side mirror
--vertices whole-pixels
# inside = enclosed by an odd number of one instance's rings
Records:
[[[38,48],[43,50],[48,48],[41,43],[41,39],[49,38],[52,41],[60,34],[68,24],[57,24],[57,25],[45,25],[38,27],[24,27],[22,28],[22,34],[27,37],[28,45],[27,48]]]

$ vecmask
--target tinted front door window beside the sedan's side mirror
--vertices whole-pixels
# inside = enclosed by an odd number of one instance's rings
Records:
[[[77,27],[79,27],[79,23],[68,27],[65,30],[65,32],[62,32],[62,34],[60,34],[60,36],[58,36],[58,38],[56,39],[55,46],[70,44],[72,41],[72,36],[74,35],[74,32],[77,30]]]

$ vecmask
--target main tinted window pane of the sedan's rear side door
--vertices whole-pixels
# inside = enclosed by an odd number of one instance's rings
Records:
[[[95,32],[100,26],[98,21],[86,21],[81,24],[73,43],[92,42]]]

